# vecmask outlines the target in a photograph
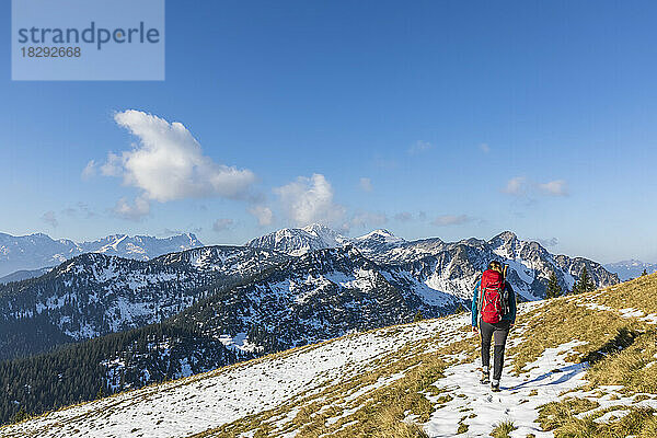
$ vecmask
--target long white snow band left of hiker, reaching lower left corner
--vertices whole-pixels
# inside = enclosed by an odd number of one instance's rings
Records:
[[[148,387],[0,428],[1,437],[187,437],[274,408],[302,391],[367,372],[382,355],[441,333],[462,338],[469,314],[357,333],[315,346]],[[394,379],[393,379],[394,380]],[[392,380],[391,380],[392,381]],[[385,384],[382,382],[381,384]]]

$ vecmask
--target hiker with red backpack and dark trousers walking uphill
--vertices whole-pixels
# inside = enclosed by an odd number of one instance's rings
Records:
[[[481,330],[483,384],[491,383],[494,392],[499,391],[499,378],[504,366],[504,346],[509,330],[516,323],[516,293],[506,280],[506,267],[492,261],[474,288],[472,298],[472,331]],[[493,380],[491,380],[491,338],[495,339]]]

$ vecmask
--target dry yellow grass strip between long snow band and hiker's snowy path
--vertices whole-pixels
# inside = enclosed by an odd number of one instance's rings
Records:
[[[417,425],[426,423],[431,413],[451,397],[439,397],[437,405],[425,393],[439,394],[433,385],[449,365],[443,351],[422,353],[430,339],[406,346],[373,364],[369,372],[327,384],[321,391],[296,397],[276,410],[207,430],[197,437],[233,437],[257,430],[256,437],[274,437],[297,430],[300,438],[331,437],[425,437]],[[356,391],[397,372],[404,376],[394,382],[349,397]],[[293,410],[290,422],[273,426]],[[410,420],[413,418],[413,422]],[[416,424],[417,423],[417,424]]]

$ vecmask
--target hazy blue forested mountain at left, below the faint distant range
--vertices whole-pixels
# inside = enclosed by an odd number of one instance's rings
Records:
[[[0,286],[0,360],[155,323],[289,256],[206,246],[142,262],[88,253]]]

